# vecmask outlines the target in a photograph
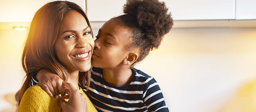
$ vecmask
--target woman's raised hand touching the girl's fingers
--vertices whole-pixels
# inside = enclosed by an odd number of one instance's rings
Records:
[[[63,97],[55,96],[63,112],[87,112],[88,105],[84,95],[78,92],[71,83],[63,82],[63,85],[67,87],[65,88],[65,92],[68,93],[68,95]],[[68,102],[65,101],[64,98],[69,99]]]

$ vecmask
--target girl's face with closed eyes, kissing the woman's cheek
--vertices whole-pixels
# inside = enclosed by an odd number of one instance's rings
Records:
[[[116,68],[120,66],[129,52],[129,31],[117,24],[116,20],[107,21],[98,32],[92,54],[92,66],[98,68]]]

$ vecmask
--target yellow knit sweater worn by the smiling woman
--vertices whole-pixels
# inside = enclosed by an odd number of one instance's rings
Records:
[[[83,90],[80,88],[78,91],[83,93],[84,98],[87,100],[88,112],[97,112]],[[63,112],[63,110],[54,97],[50,97],[39,84],[36,84],[28,88],[24,93],[18,112]]]

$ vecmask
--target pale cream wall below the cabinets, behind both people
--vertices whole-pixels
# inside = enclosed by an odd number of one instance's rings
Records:
[[[24,77],[26,34],[0,31],[0,111],[12,108],[4,95],[18,91]],[[171,112],[255,111],[255,36],[255,28],[174,28],[137,68],[156,79]]]

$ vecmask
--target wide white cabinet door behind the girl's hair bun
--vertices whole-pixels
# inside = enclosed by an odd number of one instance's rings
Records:
[[[174,20],[235,19],[235,0],[160,0],[172,12]],[[123,14],[125,0],[87,0],[90,21],[107,21]]]

